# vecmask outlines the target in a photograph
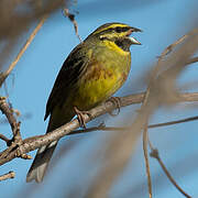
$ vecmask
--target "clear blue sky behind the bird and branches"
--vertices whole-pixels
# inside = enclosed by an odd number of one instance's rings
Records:
[[[131,47],[132,69],[130,77],[117,94],[117,96],[123,96],[145,89],[141,77],[157,61],[156,56],[167,45],[190,30],[190,14],[197,6],[196,0],[153,1],[153,3],[144,2],[143,7],[138,1],[129,0],[122,3],[118,0],[109,0],[108,2],[105,0],[84,0],[74,6],[72,10],[79,12],[76,15],[76,20],[79,35],[82,38],[86,38],[99,25],[114,21],[124,22],[144,31],[135,34],[135,37],[143,45]],[[20,42],[19,46],[22,46],[22,40]],[[16,68],[12,73],[13,75],[9,77],[8,89],[13,107],[19,109],[22,114],[31,113],[30,119],[22,121],[21,133],[23,138],[45,133],[47,122],[43,121],[43,117],[48,95],[63,62],[78,43],[73,24],[64,18],[59,10],[46,21],[18,63]],[[16,53],[18,51],[15,51]],[[178,81],[180,85],[195,81],[197,75],[196,66],[191,66],[183,73]],[[14,79],[13,85],[12,79]],[[124,108],[116,119],[130,114],[136,108],[139,106]],[[161,108],[154,114],[152,122],[164,122],[187,116],[196,116],[195,107]],[[102,117],[102,119],[106,120],[107,125],[114,123],[114,118]],[[198,195],[196,185],[198,182],[198,172],[196,172],[196,164],[198,164],[196,158],[198,153],[196,128],[196,122],[191,122],[150,130],[151,140],[160,150],[161,156],[174,175],[174,178],[186,191],[195,196]],[[1,130],[6,131],[6,135],[10,135],[10,129],[7,125],[3,125]],[[98,167],[97,162],[100,162],[102,158],[102,152],[99,151],[98,160],[94,164],[88,164],[86,158],[91,156],[92,151],[96,150],[97,152],[96,145],[105,136],[105,133],[96,132],[64,138],[61,142],[62,145],[74,144],[74,146],[67,152],[67,155],[55,156],[55,158],[61,158],[59,163],[53,167],[52,172],[50,170],[47,177],[50,179],[46,179],[40,186],[25,183],[25,175],[31,161],[14,160],[1,166],[1,174],[11,169],[16,173],[14,179],[1,183],[2,197],[15,198],[20,195],[25,195],[25,193],[30,195],[30,189],[34,189],[30,197],[47,196],[53,198],[57,195],[57,189],[63,189],[59,197],[67,195],[69,190],[81,190],[84,193],[84,184],[95,176]],[[2,147],[3,145],[0,142],[0,146]],[[34,155],[34,153],[32,152],[31,155]],[[190,156],[195,156],[194,161],[190,161]],[[189,161],[186,162],[185,158],[189,158]],[[154,197],[182,198],[183,196],[164,176],[158,164],[153,158],[150,162]],[[58,172],[61,168],[64,168],[63,173]],[[131,197],[130,193],[132,195],[141,195],[141,197],[147,196],[141,140],[134,157],[112,189],[111,197],[120,198],[122,195]]]

